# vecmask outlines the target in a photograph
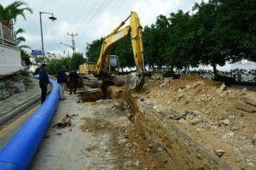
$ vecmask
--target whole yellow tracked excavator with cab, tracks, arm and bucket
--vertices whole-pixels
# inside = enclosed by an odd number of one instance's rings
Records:
[[[130,26],[120,29],[128,19],[130,19]],[[99,80],[103,82],[112,81],[118,86],[124,85],[125,79],[119,75],[119,58],[109,53],[113,45],[123,41],[126,37],[131,37],[131,46],[137,68],[136,72],[131,73],[130,88],[141,88],[143,86],[145,66],[142,26],[136,12],[131,11],[131,15],[126,20],[122,21],[113,32],[104,38],[101,54],[96,63],[87,62],[84,65],[79,65],[79,74],[82,75],[84,83],[91,88],[98,88]]]

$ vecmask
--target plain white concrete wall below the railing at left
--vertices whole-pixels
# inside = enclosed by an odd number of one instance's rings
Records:
[[[20,70],[24,70],[21,65],[20,51],[17,48],[10,48],[0,44],[0,77]]]

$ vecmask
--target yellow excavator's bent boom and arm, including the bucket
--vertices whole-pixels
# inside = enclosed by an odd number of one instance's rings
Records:
[[[125,21],[129,18],[131,18],[130,26],[120,29],[125,25]],[[131,37],[131,46],[137,72],[131,75],[130,87],[137,88],[141,87],[144,83],[143,73],[145,71],[143,60],[142,26],[136,12],[131,11],[131,15],[126,20],[122,21],[112,33],[105,37],[104,42],[102,43],[101,54],[97,60],[96,70],[98,75],[108,74],[108,65],[106,65],[106,63],[108,63],[110,49],[116,43],[123,41],[126,37]]]

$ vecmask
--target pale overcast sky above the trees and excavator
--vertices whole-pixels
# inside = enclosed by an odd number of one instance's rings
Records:
[[[3,7],[14,1],[1,0]],[[106,37],[120,22],[125,20],[131,11],[137,12],[141,25],[151,26],[160,14],[169,17],[171,13],[177,13],[178,9],[183,12],[191,11],[195,3],[201,0],[25,0],[33,9],[33,14],[25,12],[26,20],[18,18],[15,30],[23,28],[26,33],[24,44],[32,49],[41,50],[41,31],[39,12],[53,13],[57,18],[49,20],[51,14],[41,14],[44,34],[44,52],[61,53],[72,48],[62,45],[60,42],[72,46],[72,36],[76,51],[85,52],[86,43]],[[126,21],[128,26],[130,20]],[[30,50],[27,50],[30,52]],[[67,52],[66,52],[67,54]]]

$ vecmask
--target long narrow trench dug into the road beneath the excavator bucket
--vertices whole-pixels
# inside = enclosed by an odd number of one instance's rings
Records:
[[[131,109],[131,122],[136,124],[137,129],[143,135],[144,142],[159,145],[164,150],[162,156],[154,157],[155,161],[165,164],[163,169],[234,169],[191,139],[189,135],[183,133],[172,122],[154,112],[144,103],[143,99],[133,96],[130,92],[124,87],[102,86],[102,93],[96,93],[93,99],[88,97],[90,91],[81,96],[87,96],[82,99],[83,101],[96,101],[104,98],[125,101],[124,103],[127,103]]]

